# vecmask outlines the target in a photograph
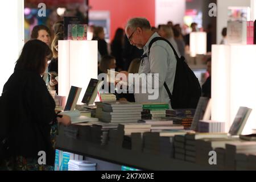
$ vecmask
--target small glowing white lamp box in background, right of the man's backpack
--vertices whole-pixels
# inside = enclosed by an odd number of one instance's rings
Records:
[[[191,32],[189,35],[189,48],[191,57],[207,53],[207,33]]]

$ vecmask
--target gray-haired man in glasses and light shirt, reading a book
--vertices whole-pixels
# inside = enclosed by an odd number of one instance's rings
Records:
[[[170,98],[166,89],[164,88],[164,82],[166,82],[170,92],[172,93],[177,63],[174,51],[172,51],[172,48],[167,42],[158,40],[152,44],[150,55],[148,57],[148,46],[151,40],[159,37],[159,35],[158,33],[151,31],[150,23],[145,18],[130,19],[127,22],[125,33],[130,44],[139,49],[143,49],[144,51],[144,58],[141,61],[138,73],[138,76],[141,76],[142,79],[140,81],[140,86],[142,87],[142,83],[144,83],[144,85],[145,83],[147,85],[152,85],[159,93],[158,97],[153,99],[152,97],[149,97],[150,95],[152,96],[152,93],[148,92],[148,90],[146,93],[134,93],[135,101],[167,102],[171,108]],[[121,73],[125,73],[126,76],[128,75],[127,72]],[[158,80],[156,84],[154,82],[154,78]],[[154,82],[154,84],[152,82]]]

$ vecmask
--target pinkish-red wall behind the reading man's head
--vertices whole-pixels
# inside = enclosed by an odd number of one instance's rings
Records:
[[[89,0],[90,10],[110,11],[110,40],[129,18],[143,16],[155,25],[155,0]]]

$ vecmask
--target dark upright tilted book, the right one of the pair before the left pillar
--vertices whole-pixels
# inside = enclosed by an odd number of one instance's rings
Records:
[[[84,97],[82,98],[82,103],[86,105],[92,105],[97,97],[98,88],[101,88],[102,84],[103,81],[91,78],[85,91]]]

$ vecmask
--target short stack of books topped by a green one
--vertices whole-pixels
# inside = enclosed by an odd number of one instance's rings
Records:
[[[166,109],[169,109],[168,103],[143,103],[143,109],[150,110],[150,114],[152,115],[151,119],[161,118],[166,116]]]

